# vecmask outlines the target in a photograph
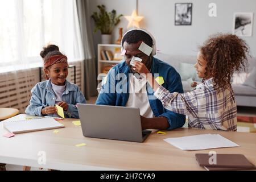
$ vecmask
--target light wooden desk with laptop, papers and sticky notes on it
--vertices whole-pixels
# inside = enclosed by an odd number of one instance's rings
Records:
[[[180,128],[167,131],[166,135],[152,133],[145,142],[136,143],[85,138],[81,126],[73,125],[73,120],[61,121],[65,128],[58,129],[58,134],[45,130],[16,134],[13,138],[2,137],[6,130],[0,123],[0,163],[61,170],[204,170],[197,164],[195,154],[212,150],[182,151],[163,139],[210,133],[241,146],[213,149],[217,154],[243,154],[256,164],[255,133]],[[79,143],[87,145],[76,147]],[[46,165],[38,164],[39,151],[46,152]]]

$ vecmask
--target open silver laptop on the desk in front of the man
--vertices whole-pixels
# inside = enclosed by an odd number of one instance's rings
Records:
[[[77,104],[84,137],[143,142],[151,131],[141,128],[139,109]]]

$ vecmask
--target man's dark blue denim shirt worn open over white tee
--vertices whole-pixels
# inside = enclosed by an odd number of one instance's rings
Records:
[[[162,86],[171,93],[183,93],[180,75],[169,64],[153,57],[150,72],[153,76],[158,74],[163,77],[164,83]],[[129,99],[129,73],[129,67],[125,61],[110,69],[106,84],[102,85],[96,104],[126,106]],[[165,109],[162,102],[154,96],[154,90],[150,86],[147,86],[147,96],[155,117],[166,117],[168,119],[170,127],[167,130],[184,125],[185,115]]]

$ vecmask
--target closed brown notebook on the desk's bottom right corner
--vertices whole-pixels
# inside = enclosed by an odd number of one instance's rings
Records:
[[[196,160],[199,165],[207,168],[209,167],[209,170],[213,170],[214,167],[227,168],[227,170],[231,170],[231,168],[237,168],[240,170],[255,168],[255,166],[251,164],[249,160],[247,160],[242,154],[217,154],[216,164],[209,163],[209,160],[212,161],[212,158],[213,156],[209,154],[196,154]]]

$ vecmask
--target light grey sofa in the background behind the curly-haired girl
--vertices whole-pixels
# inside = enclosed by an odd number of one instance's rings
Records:
[[[179,64],[180,63],[196,63],[196,56],[187,56],[187,55],[167,55],[164,53],[157,53],[156,58],[170,64],[180,73]],[[256,67],[256,59],[249,58],[247,72],[250,72],[253,67]],[[182,80],[184,92],[190,92],[190,86],[186,80]],[[236,95],[236,101],[238,106],[253,106],[256,107],[256,89],[245,86],[242,84],[232,84],[234,93]]]

